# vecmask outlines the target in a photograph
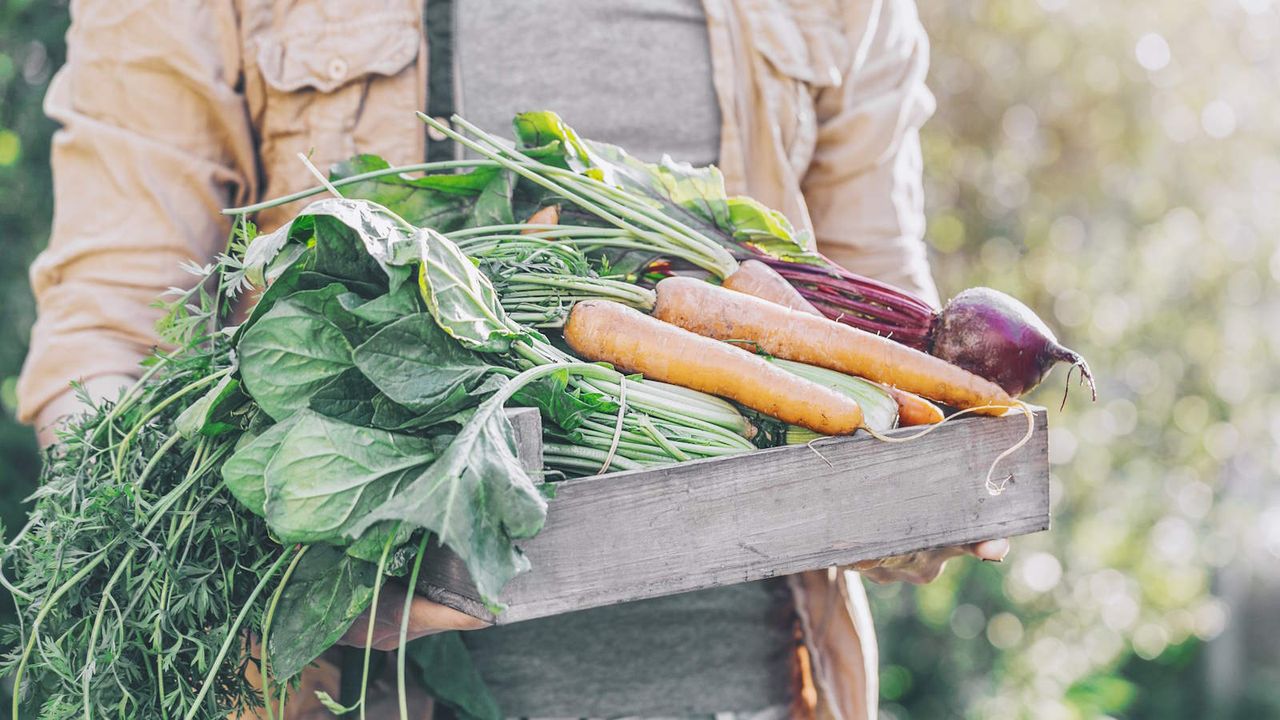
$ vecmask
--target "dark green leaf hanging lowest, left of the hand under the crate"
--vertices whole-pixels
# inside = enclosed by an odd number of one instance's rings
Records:
[[[333,647],[374,597],[378,568],[315,544],[298,561],[275,609],[268,652],[276,678],[294,678]]]

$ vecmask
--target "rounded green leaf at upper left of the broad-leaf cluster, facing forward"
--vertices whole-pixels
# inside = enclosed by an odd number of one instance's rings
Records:
[[[271,418],[306,407],[315,391],[352,366],[347,333],[324,311],[340,287],[279,300],[241,337],[241,378]]]

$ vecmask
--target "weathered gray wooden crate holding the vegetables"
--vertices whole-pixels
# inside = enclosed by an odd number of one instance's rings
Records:
[[[524,429],[525,425],[521,425]],[[955,420],[906,443],[824,438],[559,484],[532,571],[494,619],[456,556],[435,551],[431,600],[499,624],[845,565],[1048,528],[1048,433],[987,469],[1027,430],[1023,415]],[[914,434],[919,428],[895,430]]]

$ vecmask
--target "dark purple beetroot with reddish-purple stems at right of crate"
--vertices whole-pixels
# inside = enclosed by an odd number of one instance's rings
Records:
[[[970,288],[936,311],[908,292],[835,263],[819,266],[764,261],[828,318],[941,357],[987,378],[1009,395],[1030,392],[1053,365],[1070,363],[1068,380],[1079,368],[1080,382],[1088,383],[1097,398],[1089,364],[1059,343],[1036,313],[1004,292]]]

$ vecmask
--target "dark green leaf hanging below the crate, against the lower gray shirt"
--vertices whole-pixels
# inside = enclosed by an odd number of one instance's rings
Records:
[[[466,720],[502,720],[498,701],[489,692],[460,633],[416,639],[404,648],[413,675],[436,701]]]

